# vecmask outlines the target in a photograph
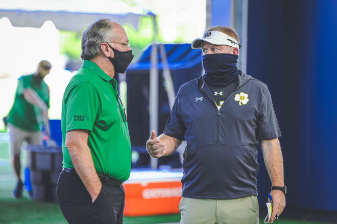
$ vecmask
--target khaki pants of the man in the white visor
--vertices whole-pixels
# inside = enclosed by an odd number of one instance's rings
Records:
[[[256,196],[239,199],[192,199],[182,197],[181,224],[258,224]]]

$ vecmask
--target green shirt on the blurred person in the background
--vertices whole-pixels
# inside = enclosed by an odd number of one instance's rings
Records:
[[[27,88],[34,90],[42,101],[49,107],[49,88],[41,80],[39,82],[35,75],[25,75],[19,78],[15,92],[14,103],[9,111],[8,123],[26,131],[40,131],[42,126],[42,111],[39,106],[28,102],[23,96]]]

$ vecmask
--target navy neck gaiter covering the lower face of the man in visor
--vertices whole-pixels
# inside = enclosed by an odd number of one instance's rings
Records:
[[[205,69],[205,80],[215,87],[224,87],[238,79],[238,55],[231,53],[205,54],[202,63]]]

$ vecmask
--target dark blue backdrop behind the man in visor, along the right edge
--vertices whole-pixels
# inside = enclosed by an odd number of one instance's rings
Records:
[[[329,0],[249,4],[247,73],[272,94],[287,206],[337,211],[336,11]],[[263,205],[271,184],[264,165],[258,184]]]

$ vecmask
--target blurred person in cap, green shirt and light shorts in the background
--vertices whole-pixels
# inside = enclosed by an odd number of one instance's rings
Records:
[[[23,183],[20,178],[20,152],[24,141],[28,144],[42,144],[41,127],[45,124],[49,134],[49,88],[43,78],[49,74],[52,65],[41,61],[32,75],[21,76],[17,83],[14,103],[9,111],[7,127],[10,137],[10,154],[17,184],[14,198],[21,198]]]

